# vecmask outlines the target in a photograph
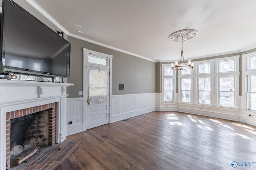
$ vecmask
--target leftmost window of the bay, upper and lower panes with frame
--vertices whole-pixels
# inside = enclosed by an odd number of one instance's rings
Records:
[[[163,74],[163,102],[173,102],[174,94],[174,71],[170,64],[162,64]]]

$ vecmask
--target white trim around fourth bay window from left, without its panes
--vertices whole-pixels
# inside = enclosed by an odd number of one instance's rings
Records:
[[[225,61],[225,60],[232,60],[235,59],[235,65],[234,65],[234,72],[218,72],[218,61]],[[228,76],[234,76],[234,108],[240,108],[240,102],[239,102],[239,55],[233,56],[233,57],[225,57],[225,58],[219,58],[219,59],[214,59],[214,70],[216,73],[214,74],[214,103],[215,106],[220,106],[219,105],[219,77],[228,77]],[[224,106],[223,106],[224,107]]]

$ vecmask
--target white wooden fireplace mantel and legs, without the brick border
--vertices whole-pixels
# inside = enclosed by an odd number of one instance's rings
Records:
[[[66,87],[72,85],[0,80],[0,170],[6,169],[6,113],[56,102],[56,143],[60,143],[66,139]]]

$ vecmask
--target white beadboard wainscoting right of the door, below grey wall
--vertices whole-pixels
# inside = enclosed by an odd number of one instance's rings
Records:
[[[156,93],[112,96],[112,122],[128,119],[155,110]]]

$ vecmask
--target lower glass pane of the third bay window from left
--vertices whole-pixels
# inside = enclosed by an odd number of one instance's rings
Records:
[[[211,78],[200,77],[198,80],[198,104],[210,105]]]

